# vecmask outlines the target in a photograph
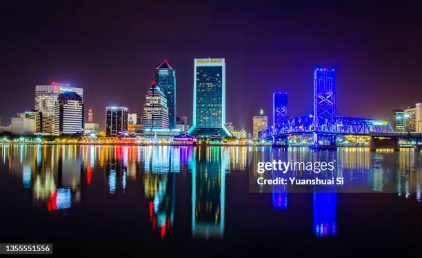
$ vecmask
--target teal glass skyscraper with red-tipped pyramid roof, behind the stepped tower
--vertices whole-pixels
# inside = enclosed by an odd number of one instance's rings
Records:
[[[176,72],[166,59],[155,69],[154,83],[167,99],[168,128],[176,129]]]

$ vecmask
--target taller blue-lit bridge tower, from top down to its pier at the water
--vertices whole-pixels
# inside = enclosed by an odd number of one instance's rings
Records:
[[[314,147],[335,147],[334,134],[321,133],[320,118],[332,118],[336,115],[336,74],[335,69],[319,67],[314,70]]]

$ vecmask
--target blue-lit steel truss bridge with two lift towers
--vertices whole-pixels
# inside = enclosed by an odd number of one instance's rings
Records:
[[[316,68],[314,71],[314,115],[287,117],[287,96],[283,103],[273,99],[274,125],[259,134],[260,140],[287,145],[288,136],[312,135],[314,147],[335,148],[336,136],[371,136],[370,149],[399,149],[397,140],[422,143],[422,133],[394,132],[388,121],[369,118],[335,116],[334,69]],[[285,92],[283,92],[286,94]],[[274,93],[274,96],[276,94]],[[286,94],[287,95],[287,94]],[[277,110],[286,110],[277,117]],[[421,149],[421,145],[418,146]]]

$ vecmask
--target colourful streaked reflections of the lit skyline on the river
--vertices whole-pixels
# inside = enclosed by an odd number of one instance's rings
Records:
[[[259,160],[279,157],[293,161],[336,159],[342,168],[340,173],[348,179],[346,183],[369,186],[376,192],[394,187],[398,198],[421,202],[421,153],[413,151],[372,153],[350,148],[313,152],[293,148],[286,152],[267,147],[3,144],[0,157],[1,173],[20,180],[21,188],[30,190],[32,209],[45,210],[48,216],[66,215],[75,206],[83,207],[83,200],[90,198],[88,192],[94,191],[100,199],[114,196],[124,202],[127,193],[143,189],[139,197],[144,202],[139,205],[148,213],[150,230],[159,239],[177,226],[177,204],[181,198],[191,205],[190,216],[183,219],[190,219],[193,238],[223,239],[228,226],[226,199],[236,185],[230,178],[247,178]],[[297,172],[301,174],[303,171]],[[179,180],[190,185],[178,184]],[[285,189],[274,187],[271,194],[263,194],[272,204],[268,210],[283,215],[294,209],[297,204],[291,200],[292,193],[284,192]],[[177,193],[182,193],[181,197]],[[243,193],[245,198],[256,194]],[[312,206],[314,236],[335,237],[339,194],[311,195],[308,205]],[[253,210],[252,204],[250,209]]]

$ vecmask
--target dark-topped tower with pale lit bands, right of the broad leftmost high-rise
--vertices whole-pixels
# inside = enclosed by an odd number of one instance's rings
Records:
[[[83,101],[75,92],[59,94],[54,108],[54,135],[83,132]]]

